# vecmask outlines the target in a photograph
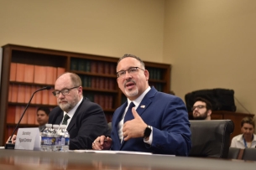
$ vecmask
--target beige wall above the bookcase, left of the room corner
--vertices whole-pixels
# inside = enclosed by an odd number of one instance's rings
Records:
[[[165,0],[0,0],[0,45],[162,62]]]

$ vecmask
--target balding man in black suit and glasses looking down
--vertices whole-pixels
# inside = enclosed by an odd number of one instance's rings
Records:
[[[81,79],[65,73],[55,81],[53,94],[59,106],[50,111],[50,124],[65,124],[70,133],[70,150],[91,149],[91,143],[107,132],[102,107],[82,95]]]

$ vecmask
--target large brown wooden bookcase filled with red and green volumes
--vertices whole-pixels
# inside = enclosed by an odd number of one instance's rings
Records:
[[[13,132],[17,120],[20,118],[20,114],[24,112],[24,107],[29,101],[28,97],[30,98],[35,90],[46,85],[51,85],[54,88],[55,80],[51,82],[47,80],[40,82],[40,80],[47,79],[45,76],[48,77],[50,75],[54,75],[53,78],[55,79],[64,71],[74,72],[81,76],[83,95],[91,101],[100,104],[105,112],[107,121],[111,121],[112,113],[126,100],[125,95],[118,88],[116,75],[117,62],[118,58],[106,56],[40,49],[15,44],[4,45],[0,98],[0,146],[3,146],[3,143],[7,141],[7,138]],[[146,69],[149,70],[149,85],[154,85],[157,90],[169,93],[170,64],[144,63]],[[18,70],[20,67],[17,65],[20,64],[25,64],[25,70]],[[19,75],[18,78],[20,76],[29,77],[28,73],[32,73],[33,71],[26,71],[26,69],[32,65],[34,67],[34,78],[37,81],[34,82],[34,79],[25,82],[24,80],[13,79],[13,65],[16,65],[16,73]],[[35,71],[36,67],[42,70]],[[49,68],[55,71],[50,74],[51,71],[47,70]],[[30,91],[25,90],[23,92],[26,88],[30,88]],[[34,95],[36,101],[31,102],[29,105],[31,111],[29,109],[26,111],[26,116],[24,116],[25,121],[23,120],[19,127],[38,126],[34,120],[36,117],[36,108],[39,106],[54,108],[56,106],[56,103],[53,101],[50,102],[50,99],[52,100],[50,94],[52,90],[49,91],[49,94],[42,93],[39,96],[36,93]],[[23,97],[21,97],[22,100],[13,100],[17,97],[15,94],[20,96],[22,93],[26,95],[25,99],[27,100],[24,100]],[[49,100],[44,102],[45,95],[48,96],[46,98]]]

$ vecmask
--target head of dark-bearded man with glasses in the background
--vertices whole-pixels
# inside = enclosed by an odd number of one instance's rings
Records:
[[[212,104],[201,97],[195,99],[195,104],[192,107],[194,120],[211,120]]]

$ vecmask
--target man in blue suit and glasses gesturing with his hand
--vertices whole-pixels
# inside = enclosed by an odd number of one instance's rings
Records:
[[[188,156],[191,130],[184,102],[149,86],[149,71],[133,54],[118,60],[118,87],[127,101],[112,116],[111,137],[97,137],[95,150]]]

